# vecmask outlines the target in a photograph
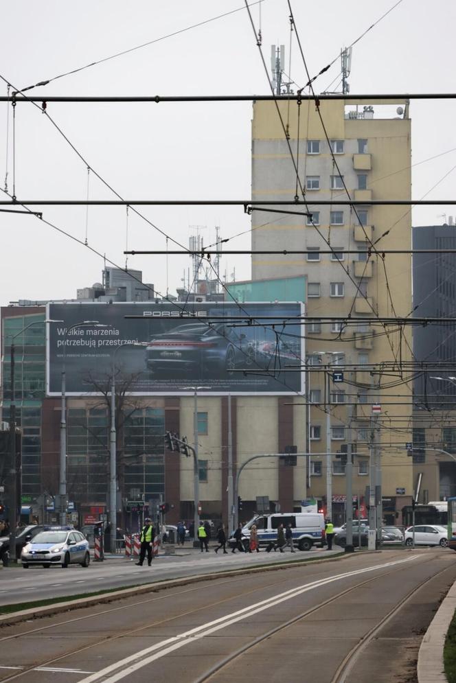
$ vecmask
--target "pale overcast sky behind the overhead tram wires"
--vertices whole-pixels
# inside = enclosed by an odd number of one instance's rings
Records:
[[[393,7],[396,0],[292,0],[297,31],[310,73],[332,61],[341,47],[358,38]],[[16,0],[2,5],[0,75],[19,89],[76,69],[242,8],[242,0],[170,0],[167,3],[118,0]],[[259,5],[251,8],[260,25]],[[352,93],[455,91],[451,0],[402,0],[356,44]],[[261,31],[266,63],[273,43],[288,45],[286,0],[263,0]],[[317,92],[334,85],[340,60],[315,83]],[[293,39],[291,78],[306,82]],[[6,85],[0,84],[6,94]],[[30,91],[34,95],[267,94],[269,83],[245,9],[159,40],[129,54],[84,69]],[[412,163],[443,154],[413,168],[412,197],[455,196],[455,106],[451,100],[412,102]],[[12,119],[8,191],[12,194]],[[0,106],[0,187],[6,169],[8,105]],[[124,198],[248,198],[251,183],[251,103],[218,104],[49,104],[48,110],[87,163]],[[446,178],[444,178],[444,176]],[[442,180],[442,178],[444,178]],[[441,181],[442,182],[439,182]],[[93,174],[91,198],[113,198]],[[0,193],[1,198],[6,198]],[[38,108],[16,107],[16,196],[22,199],[84,199],[87,167]],[[36,210],[36,207],[34,207]],[[187,246],[191,226],[200,225],[205,243],[240,232],[227,248],[249,248],[250,220],[242,207],[141,207],[141,213],[170,238]],[[443,221],[451,207],[418,207],[413,224]],[[44,217],[111,261],[124,266],[126,210],[122,207],[44,207]],[[100,281],[102,258],[30,216],[0,213],[0,303],[18,299],[71,299],[76,289]],[[130,212],[128,248],[166,248],[166,240]],[[170,242],[170,248],[172,243]],[[181,286],[187,257],[168,259],[168,287]],[[166,292],[166,259],[129,257],[144,281]],[[223,259],[221,273],[236,268],[236,279],[250,276],[247,257]]]

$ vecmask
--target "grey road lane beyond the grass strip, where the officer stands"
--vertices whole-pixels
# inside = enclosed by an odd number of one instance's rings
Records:
[[[305,557],[325,557],[340,553],[312,548],[308,553],[287,550],[285,553],[229,553],[216,555],[211,548],[209,553],[187,548],[179,555],[159,555],[148,567],[147,562],[136,566],[137,558],[113,557],[105,562],[91,562],[89,568],[70,565],[67,569],[55,566],[43,569],[42,566],[23,569],[19,567],[0,570],[0,605],[11,605],[26,601],[43,600],[65,595],[79,595],[109,588],[137,586],[140,583],[163,579],[177,579],[186,576],[205,574],[220,569],[240,568],[255,564],[269,564],[302,560]]]

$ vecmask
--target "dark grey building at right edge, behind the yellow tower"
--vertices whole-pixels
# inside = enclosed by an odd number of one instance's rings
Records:
[[[441,253],[413,255],[415,316],[448,318],[455,315],[456,226],[413,227],[413,248]],[[456,495],[456,334],[455,325],[416,326],[413,352],[427,367],[415,380],[413,452],[415,476],[422,474],[422,498],[443,500]]]

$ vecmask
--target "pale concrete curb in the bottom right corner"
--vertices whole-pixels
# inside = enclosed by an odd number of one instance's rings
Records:
[[[448,683],[444,673],[444,645],[448,627],[456,610],[456,582],[446,594],[418,652],[418,683]]]

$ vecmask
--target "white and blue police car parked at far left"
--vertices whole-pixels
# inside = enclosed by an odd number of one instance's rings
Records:
[[[46,569],[52,564],[64,568],[69,564],[88,567],[89,541],[72,526],[49,526],[23,547],[21,562],[24,569],[31,564],[42,564]]]

